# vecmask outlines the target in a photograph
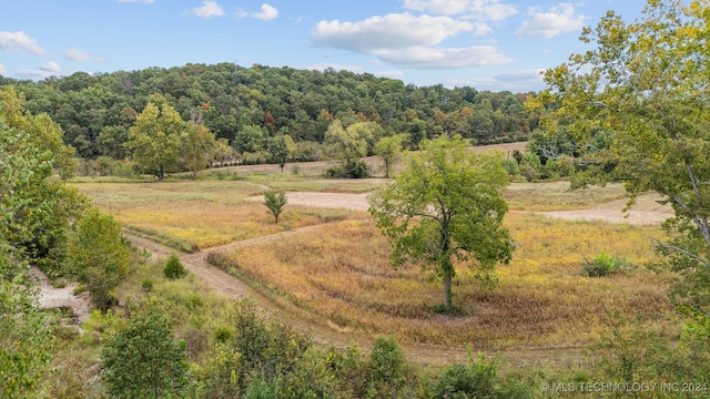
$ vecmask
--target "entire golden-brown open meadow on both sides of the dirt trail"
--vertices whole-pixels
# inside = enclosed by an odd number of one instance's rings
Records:
[[[504,193],[511,209],[506,227],[516,243],[513,262],[497,267],[493,287],[457,267],[457,314],[448,316],[435,311],[443,300],[440,280],[409,265],[392,268],[386,239],[362,211],[366,193],[384,180],[324,180],[315,170],[296,175],[264,167],[213,170],[197,181],[73,184],[130,233],[185,252],[210,248],[212,265],[307,315],[316,331],[481,350],[584,347],[618,317],[638,319],[669,341],[680,334],[666,296],[668,276],[646,267],[657,259],[649,237],[662,236],[659,224],[604,222],[607,212],[623,206],[620,185],[569,191],[567,182],[513,183]],[[310,200],[286,205],[275,224],[254,201],[268,188]],[[336,205],[308,203],[315,193]],[[361,205],[333,207],[355,197]],[[657,217],[668,215],[652,204],[643,198],[641,205]],[[600,221],[545,216],[566,212]],[[304,226],[316,228],[297,232]],[[297,234],[280,235],[290,231]],[[271,238],[250,242],[257,237]],[[248,245],[227,246],[235,242]],[[599,254],[631,266],[606,277],[584,275],[582,264]]]

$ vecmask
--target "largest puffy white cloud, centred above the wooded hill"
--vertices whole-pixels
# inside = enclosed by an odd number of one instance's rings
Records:
[[[313,41],[361,53],[432,45],[475,30],[470,22],[448,17],[390,13],[359,22],[321,21],[311,31]]]

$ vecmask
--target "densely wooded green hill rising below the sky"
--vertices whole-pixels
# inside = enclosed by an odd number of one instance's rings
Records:
[[[536,116],[524,112],[526,94],[418,88],[348,71],[187,64],[77,72],[40,82],[0,78],[0,86],[8,85],[24,95],[28,111],[48,113],[59,123],[65,143],[83,158],[124,157],[129,129],[155,94],[183,120],[199,120],[232,145],[253,126],[265,136],[281,133],[296,143],[322,143],[335,119],[344,126],[368,121],[390,134],[406,133],[410,147],[440,134],[460,134],[477,144],[523,141],[537,126]]]

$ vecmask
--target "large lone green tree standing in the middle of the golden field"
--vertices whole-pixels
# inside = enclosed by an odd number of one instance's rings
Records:
[[[393,265],[407,259],[444,280],[444,305],[452,309],[454,260],[488,279],[513,256],[503,227],[508,184],[497,153],[477,155],[460,136],[425,140],[405,168],[369,197],[369,213],[392,244]]]

